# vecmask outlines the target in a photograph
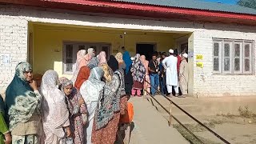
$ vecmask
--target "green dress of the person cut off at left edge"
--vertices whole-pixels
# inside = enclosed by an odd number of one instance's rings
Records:
[[[0,144],[4,144],[4,134],[9,133],[8,126],[6,125],[6,114],[3,106],[4,102],[2,96],[0,95]]]

